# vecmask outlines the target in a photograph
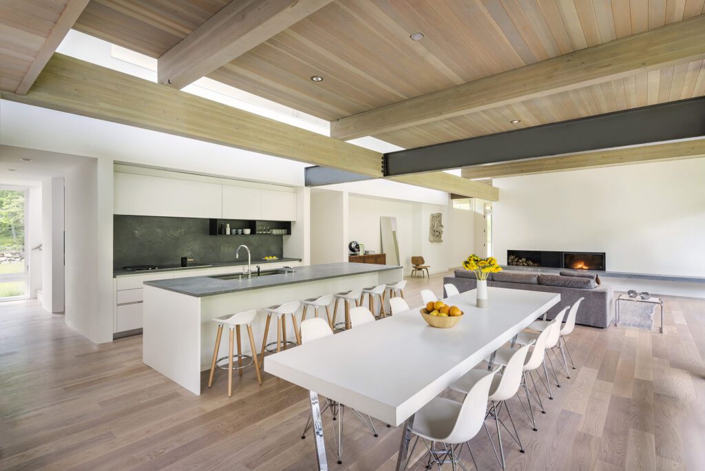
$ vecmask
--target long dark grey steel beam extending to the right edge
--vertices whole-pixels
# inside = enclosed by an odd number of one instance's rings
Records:
[[[385,176],[705,136],[705,97],[384,155]]]

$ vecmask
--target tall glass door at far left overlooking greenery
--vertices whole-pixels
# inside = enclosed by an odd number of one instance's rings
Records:
[[[27,298],[27,190],[0,186],[0,301]]]

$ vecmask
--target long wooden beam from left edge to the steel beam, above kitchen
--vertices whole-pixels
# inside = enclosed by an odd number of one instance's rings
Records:
[[[233,106],[54,54],[26,95],[3,99],[308,164],[382,176],[382,154]]]

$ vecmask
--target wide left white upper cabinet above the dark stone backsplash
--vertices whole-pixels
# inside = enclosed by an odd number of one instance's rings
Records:
[[[222,187],[217,183],[115,173],[115,214],[219,218]]]

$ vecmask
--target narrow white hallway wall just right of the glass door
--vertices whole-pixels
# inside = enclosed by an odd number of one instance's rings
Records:
[[[42,182],[42,306],[63,312],[63,177]]]

